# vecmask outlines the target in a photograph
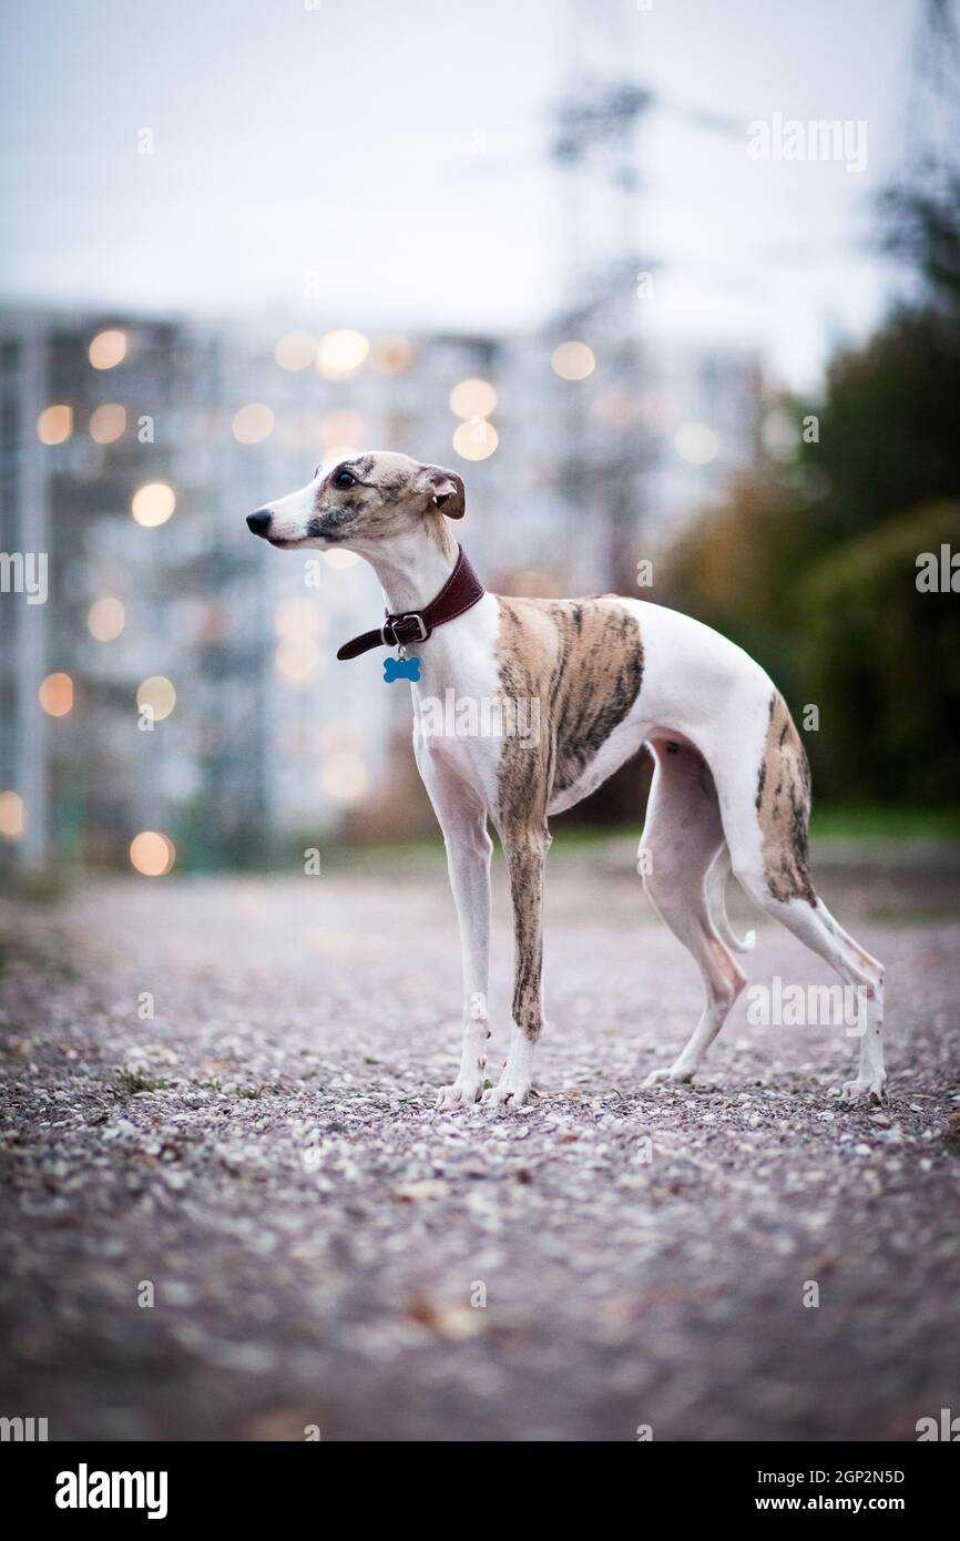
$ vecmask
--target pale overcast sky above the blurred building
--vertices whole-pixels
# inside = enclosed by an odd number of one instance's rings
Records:
[[[550,103],[572,72],[618,66],[666,103],[636,136],[630,217],[663,264],[644,324],[749,341],[809,384],[889,293],[868,242],[909,151],[917,15],[918,0],[5,0],[0,299],[533,325],[566,268]],[[750,160],[747,123],[774,112],[866,120],[866,170]],[[618,228],[592,230],[598,253]]]

